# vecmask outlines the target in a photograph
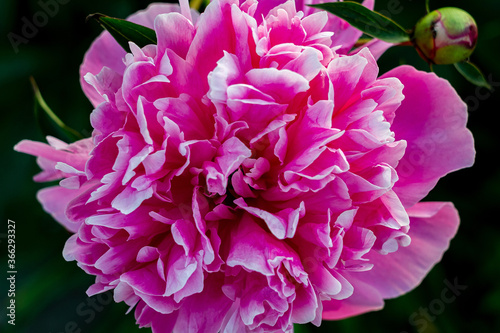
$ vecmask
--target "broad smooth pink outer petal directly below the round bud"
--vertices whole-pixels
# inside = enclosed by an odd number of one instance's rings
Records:
[[[404,85],[403,100],[391,130],[408,147],[396,171],[394,191],[411,207],[449,172],[474,163],[472,134],[465,127],[467,105],[450,83],[434,73],[401,66],[383,75]]]

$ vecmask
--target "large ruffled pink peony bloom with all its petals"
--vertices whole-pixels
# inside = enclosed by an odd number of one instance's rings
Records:
[[[35,180],[62,179],[38,198],[89,295],[113,290],[155,333],[289,332],[381,309],[440,260],[458,214],[420,200],[474,159],[447,81],[379,76],[368,48],[348,54],[359,32],[299,1],[130,20],[158,44],[94,42],[92,138],[16,146]]]

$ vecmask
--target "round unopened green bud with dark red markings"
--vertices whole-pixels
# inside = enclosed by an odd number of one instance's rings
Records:
[[[413,43],[432,64],[454,64],[469,58],[477,43],[477,25],[467,12],[454,7],[437,9],[415,25]]]

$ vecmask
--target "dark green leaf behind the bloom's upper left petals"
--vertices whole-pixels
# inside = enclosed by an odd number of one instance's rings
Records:
[[[148,27],[99,13],[87,16],[87,20],[89,19],[97,21],[104,29],[108,30],[127,52],[129,52],[128,42],[134,42],[139,47],[157,44],[155,31]]]

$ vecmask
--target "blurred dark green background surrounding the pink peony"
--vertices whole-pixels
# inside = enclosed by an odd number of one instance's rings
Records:
[[[31,177],[39,171],[35,159],[15,153],[12,147],[25,138],[43,141],[33,118],[30,75],[38,81],[52,109],[68,125],[87,135],[90,133],[88,115],[92,107],[81,92],[78,68],[100,28],[96,24],[86,24],[85,17],[94,12],[126,17],[150,2],[70,0],[15,53],[7,34],[21,34],[22,18],[32,21],[41,7],[38,0],[0,1],[0,233],[4,234],[4,238],[0,238],[1,332],[149,331],[136,328],[133,315],[125,315],[127,307],[123,303],[110,302],[109,295],[86,297],[85,290],[93,277],[86,275],[74,262],[64,261],[61,251],[69,234],[45,214],[36,201],[36,191],[45,185],[32,181]],[[500,82],[500,2],[431,1],[433,9],[444,6],[461,7],[476,18],[480,39],[472,61],[487,77]],[[389,9],[393,19],[410,28],[424,14],[424,1],[377,0],[376,9]],[[403,63],[428,69],[412,48],[400,47],[389,50],[381,58],[381,71]],[[478,90],[462,79],[452,66],[437,66],[436,72],[449,79],[468,102],[469,128],[476,139],[475,166],[447,176],[427,198],[455,203],[462,217],[458,235],[443,261],[424,282],[411,293],[387,301],[382,311],[339,322],[324,322],[319,329],[302,326],[297,332],[500,332],[499,94]],[[500,84],[496,83],[494,89],[499,90]],[[14,220],[17,227],[14,330],[6,324],[4,315],[8,290],[7,219]],[[443,281],[453,283],[455,279],[467,289],[440,309],[439,299],[446,289]],[[439,314],[427,322],[417,317],[415,325],[410,323],[413,313],[429,307],[435,307],[434,311]]]

